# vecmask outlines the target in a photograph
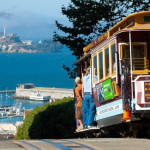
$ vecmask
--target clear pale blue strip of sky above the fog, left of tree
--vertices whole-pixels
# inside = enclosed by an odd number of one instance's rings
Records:
[[[61,6],[69,0],[0,0],[0,10],[5,12],[28,12],[47,17],[62,17]]]

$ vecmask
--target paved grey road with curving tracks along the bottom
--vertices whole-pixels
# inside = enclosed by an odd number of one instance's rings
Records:
[[[0,150],[150,150],[149,139],[1,140]]]

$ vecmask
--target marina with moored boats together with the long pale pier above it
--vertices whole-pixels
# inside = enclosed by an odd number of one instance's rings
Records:
[[[24,110],[74,96],[73,89],[35,87],[32,83],[18,84],[16,90],[1,90],[0,95],[0,122],[23,121]]]

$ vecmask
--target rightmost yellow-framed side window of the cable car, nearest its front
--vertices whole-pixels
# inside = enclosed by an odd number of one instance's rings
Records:
[[[116,52],[116,44],[113,44],[113,45],[111,45],[111,54],[112,54],[112,73],[115,73],[115,72],[116,72],[115,52]]]

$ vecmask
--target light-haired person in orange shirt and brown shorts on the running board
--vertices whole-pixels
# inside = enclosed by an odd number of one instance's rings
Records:
[[[82,123],[82,84],[80,77],[76,77],[75,83],[77,87],[75,88],[75,96],[77,98],[77,106],[76,106],[76,118],[79,123],[79,126],[77,126],[76,131],[83,129],[83,123]]]

